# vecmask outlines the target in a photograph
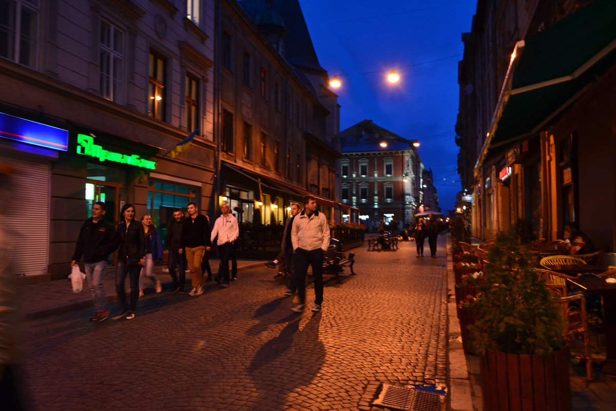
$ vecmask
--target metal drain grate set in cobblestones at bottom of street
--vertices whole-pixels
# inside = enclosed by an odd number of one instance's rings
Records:
[[[405,411],[444,411],[445,395],[413,386],[383,385],[383,391],[372,405]]]

